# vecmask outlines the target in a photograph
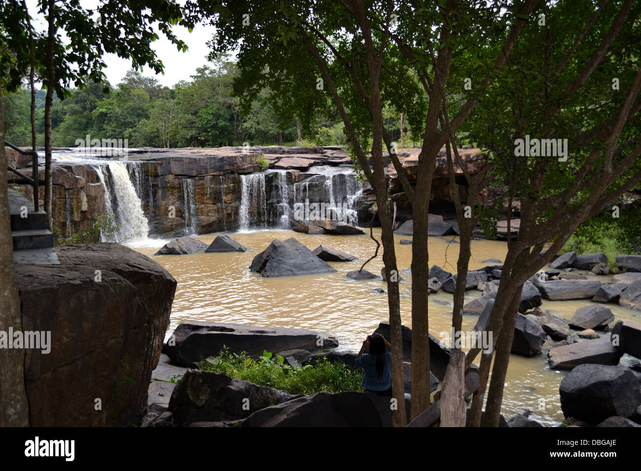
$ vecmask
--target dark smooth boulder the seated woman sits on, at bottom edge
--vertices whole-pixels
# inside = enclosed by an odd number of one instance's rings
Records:
[[[391,411],[390,411],[391,414]],[[319,392],[247,417],[243,427],[381,427],[383,422],[372,399],[364,392]]]

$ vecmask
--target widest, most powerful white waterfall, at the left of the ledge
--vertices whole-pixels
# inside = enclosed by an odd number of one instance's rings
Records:
[[[129,172],[124,163],[113,160],[108,164],[96,163],[92,167],[104,186],[105,213],[115,214],[115,222],[122,224],[121,229],[113,236],[101,236],[103,242],[118,242],[128,237],[147,240],[149,224],[142,212],[140,198],[129,179]]]

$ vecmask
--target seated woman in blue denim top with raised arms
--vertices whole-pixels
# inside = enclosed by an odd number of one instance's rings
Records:
[[[363,354],[369,347],[369,353]],[[381,334],[368,335],[356,355],[356,366],[365,370],[361,385],[365,390],[392,397],[392,348]]]

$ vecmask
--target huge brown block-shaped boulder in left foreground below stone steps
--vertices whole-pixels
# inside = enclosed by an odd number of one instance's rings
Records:
[[[56,252],[61,265],[16,265],[24,329],[51,332],[49,354],[26,351],[29,423],[135,422],[147,406],[176,280],[119,244],[63,245]]]

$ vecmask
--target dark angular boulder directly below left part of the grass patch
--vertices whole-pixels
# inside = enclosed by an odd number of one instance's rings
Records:
[[[288,397],[285,391],[232,379],[221,373],[187,370],[171,394],[169,411],[178,426],[238,420]]]

